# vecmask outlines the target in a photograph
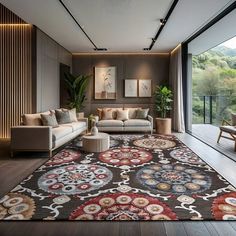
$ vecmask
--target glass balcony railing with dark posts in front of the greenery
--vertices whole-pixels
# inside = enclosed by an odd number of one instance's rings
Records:
[[[213,124],[219,126],[223,119],[231,119],[231,113],[236,113],[236,96],[204,95],[193,96],[192,123]]]

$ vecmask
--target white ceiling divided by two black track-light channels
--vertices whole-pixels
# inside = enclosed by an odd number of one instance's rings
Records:
[[[108,52],[143,52],[173,0],[63,0],[86,33]],[[0,0],[69,51],[94,52],[59,0]],[[169,52],[233,0],[179,0],[151,52]]]

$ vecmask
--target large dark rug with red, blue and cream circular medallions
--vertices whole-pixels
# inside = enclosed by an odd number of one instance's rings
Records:
[[[236,220],[236,189],[175,136],[81,140],[0,199],[4,220]]]

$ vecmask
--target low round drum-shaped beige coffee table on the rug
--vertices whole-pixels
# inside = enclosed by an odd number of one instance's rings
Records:
[[[85,152],[104,152],[110,148],[110,136],[106,133],[86,134],[82,137]]]

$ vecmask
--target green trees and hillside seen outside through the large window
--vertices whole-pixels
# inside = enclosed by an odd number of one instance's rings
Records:
[[[215,47],[192,58],[192,123],[203,123],[203,96],[209,116],[212,96],[212,123],[220,125],[236,112],[236,49]],[[209,121],[209,120],[206,120]]]

